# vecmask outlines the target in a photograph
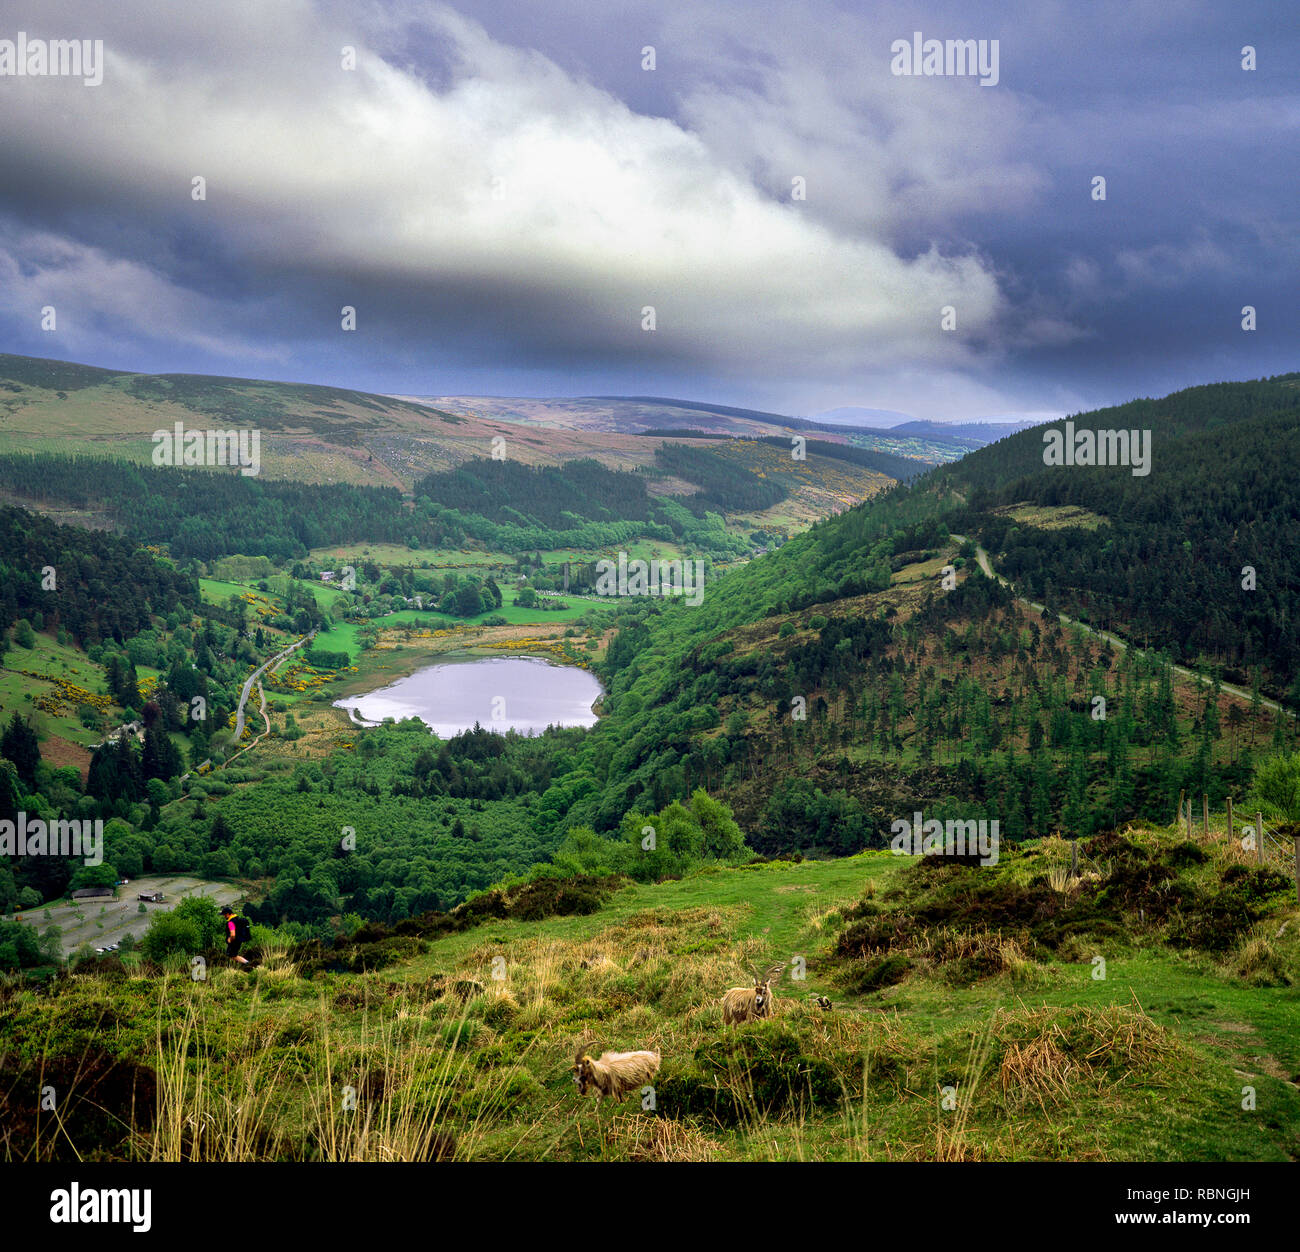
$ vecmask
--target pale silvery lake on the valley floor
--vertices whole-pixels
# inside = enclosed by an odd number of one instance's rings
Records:
[[[489,657],[443,660],[334,705],[367,723],[419,718],[439,738],[450,738],[476,722],[485,731],[521,735],[549,725],[595,725],[592,705],[601,694],[586,670],[537,657]]]

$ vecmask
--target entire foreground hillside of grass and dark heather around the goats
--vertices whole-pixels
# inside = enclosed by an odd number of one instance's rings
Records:
[[[251,974],[133,954],[3,984],[0,1151],[1295,1160],[1294,888],[1213,831],[1098,836],[1075,879],[1061,840],[985,868],[541,879],[333,948],[259,930]],[[724,1027],[722,992],[776,962],[775,1018]],[[578,1048],[659,1049],[653,1108],[581,1101]],[[57,1126],[18,1099],[38,1066],[69,1092]]]

